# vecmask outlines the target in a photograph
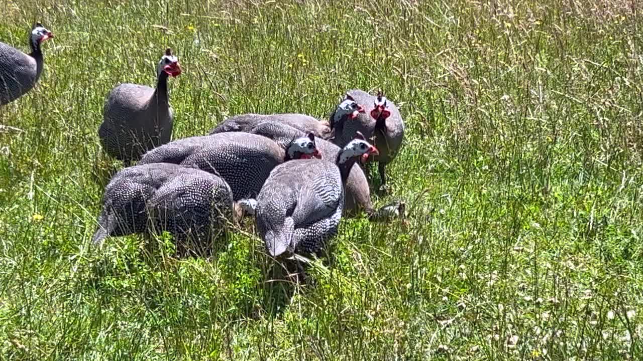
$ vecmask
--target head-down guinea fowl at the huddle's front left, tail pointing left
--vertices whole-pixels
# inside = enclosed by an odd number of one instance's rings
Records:
[[[177,240],[205,236],[230,216],[231,207],[230,187],[216,175],[168,163],[131,166],[107,184],[92,241],[144,233],[149,220]]]

